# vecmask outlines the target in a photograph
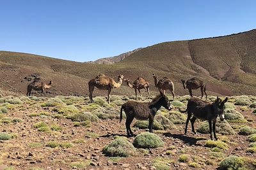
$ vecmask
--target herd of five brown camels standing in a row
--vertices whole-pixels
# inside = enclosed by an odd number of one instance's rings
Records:
[[[165,90],[170,90],[172,92],[172,96],[174,100],[175,93],[174,93],[174,85],[172,80],[170,80],[170,78],[164,77],[164,78],[161,78],[159,81],[157,81],[157,76],[155,74],[153,74],[152,77],[154,78],[155,86],[158,88],[159,92],[161,94],[165,94]],[[140,94],[141,99],[143,100],[143,97],[141,96],[141,92],[140,92],[141,89],[145,89],[148,93],[148,98],[150,98],[150,93],[148,89],[149,83],[147,80],[145,80],[145,78],[141,76],[139,76],[136,80],[134,80],[133,83],[131,83],[131,80],[129,80],[128,78],[124,79],[123,75],[118,75],[118,80],[115,81],[113,78],[106,76],[105,74],[99,74],[99,76],[93,78],[88,82],[89,92],[90,92],[90,95],[89,95],[90,102],[93,103],[92,94],[95,87],[97,87],[97,89],[99,90],[108,90],[107,101],[109,103],[110,102],[109,97],[112,89],[119,88],[122,85],[123,80],[127,83],[128,87],[135,90],[136,100],[137,100],[137,90]],[[185,80],[181,80],[181,81],[184,89],[189,90],[189,94],[191,97],[193,97],[192,90],[200,88],[202,92],[201,99],[205,94],[205,97],[207,100],[207,93],[205,92],[206,90],[205,84],[202,80],[199,80],[198,78],[194,77],[187,81]],[[27,96],[30,96],[32,89],[36,91],[40,91],[42,96],[44,96],[45,90],[50,89],[51,86],[52,86],[52,81],[50,81],[49,83],[45,83],[41,81],[40,78],[35,78],[33,82],[29,83],[28,85]]]

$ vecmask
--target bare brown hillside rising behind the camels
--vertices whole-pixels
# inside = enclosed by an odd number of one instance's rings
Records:
[[[129,55],[129,57],[125,57]],[[208,94],[256,95],[256,30],[217,38],[164,42],[122,55],[113,64],[92,64],[54,59],[17,52],[0,52],[0,89],[26,94],[26,76],[38,73],[44,81],[52,80],[49,96],[88,96],[88,81],[100,73],[117,80],[118,74],[135,80],[143,76],[157,93],[152,74],[167,76],[175,85],[175,94],[188,94],[180,79],[194,76],[204,80]],[[120,61],[120,62],[118,62]],[[113,60],[111,62],[114,62]],[[193,94],[200,95],[200,90]],[[169,93],[169,92],[168,92]],[[106,95],[95,90],[93,95]],[[125,83],[113,94],[134,95]],[[146,94],[143,94],[143,96]]]

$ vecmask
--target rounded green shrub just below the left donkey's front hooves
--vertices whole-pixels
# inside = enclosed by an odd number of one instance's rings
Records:
[[[144,132],[136,136],[133,145],[136,148],[158,148],[164,146],[164,143],[157,134]]]

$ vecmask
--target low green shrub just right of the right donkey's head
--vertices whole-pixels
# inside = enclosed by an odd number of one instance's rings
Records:
[[[225,119],[232,123],[245,123],[244,116],[234,109],[225,109]]]

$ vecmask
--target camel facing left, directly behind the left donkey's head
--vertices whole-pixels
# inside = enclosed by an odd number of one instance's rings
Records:
[[[159,92],[165,95],[165,90],[170,90],[172,92],[172,100],[174,100],[175,94],[172,80],[170,80],[167,77],[164,77],[157,82],[157,76],[153,74],[152,77],[154,78],[155,86],[158,88]]]

